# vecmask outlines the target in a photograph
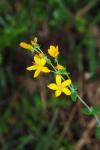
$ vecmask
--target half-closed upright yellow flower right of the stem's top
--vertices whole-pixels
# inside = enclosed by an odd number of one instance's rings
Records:
[[[55,47],[51,45],[50,48],[48,49],[48,53],[50,56],[56,58],[59,55],[58,46]]]

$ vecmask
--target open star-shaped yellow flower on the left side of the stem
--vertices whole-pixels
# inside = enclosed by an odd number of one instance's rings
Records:
[[[36,78],[40,74],[40,72],[44,72],[44,73],[50,72],[50,70],[47,67],[45,67],[46,60],[44,58],[40,58],[40,56],[36,54],[34,56],[34,61],[35,63],[33,66],[26,68],[28,71],[36,70],[34,73],[34,78]]]

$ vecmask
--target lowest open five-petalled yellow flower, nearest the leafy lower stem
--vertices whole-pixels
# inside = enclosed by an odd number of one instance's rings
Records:
[[[61,95],[61,93],[65,93],[66,95],[71,95],[71,91],[67,88],[71,84],[71,80],[65,80],[61,82],[61,76],[56,75],[56,84],[51,83],[48,85],[48,88],[51,90],[55,90],[55,96],[58,97]]]

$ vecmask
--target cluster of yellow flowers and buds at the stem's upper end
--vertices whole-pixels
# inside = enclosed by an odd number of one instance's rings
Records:
[[[62,65],[58,63],[59,56],[59,47],[50,45],[48,49],[48,54],[53,58],[54,65],[51,59],[48,58],[46,54],[40,49],[39,44],[37,43],[37,38],[31,41],[31,44],[26,42],[21,42],[20,47],[24,49],[28,49],[34,54],[33,64],[26,69],[28,71],[35,71],[34,78],[38,77],[40,73],[54,73],[55,82],[48,85],[48,88],[51,90],[55,90],[55,96],[58,97],[61,93],[66,95],[71,95],[71,90],[69,87],[71,86],[71,80],[65,80],[62,75],[66,74],[66,69]],[[56,64],[55,64],[56,63]],[[47,67],[49,65],[49,68]],[[51,70],[51,68],[53,70]],[[63,80],[63,81],[62,81]]]

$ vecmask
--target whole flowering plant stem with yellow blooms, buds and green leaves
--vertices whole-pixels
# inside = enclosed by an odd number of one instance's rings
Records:
[[[54,83],[50,83],[48,85],[48,88],[55,91],[55,96],[58,97],[62,93],[64,93],[65,95],[69,95],[72,101],[74,102],[76,100],[80,100],[80,102],[85,106],[85,108],[83,109],[83,112],[86,115],[92,115],[95,117],[96,123],[97,123],[96,135],[98,138],[100,138],[100,120],[97,116],[97,114],[100,113],[100,106],[90,107],[80,97],[76,88],[74,88],[75,86],[73,85],[66,68],[62,66],[61,64],[59,64],[58,46],[50,45],[48,49],[48,54],[51,56],[51,58],[53,58],[53,60],[51,60],[49,56],[41,50],[40,45],[37,42],[37,38],[34,38],[34,40],[31,41],[30,44],[26,42],[21,42],[20,47],[27,49],[34,56],[33,65],[26,68],[28,71],[35,71],[34,76],[33,76],[34,78],[37,78],[41,72],[47,73],[47,74],[53,73],[55,81]]]

